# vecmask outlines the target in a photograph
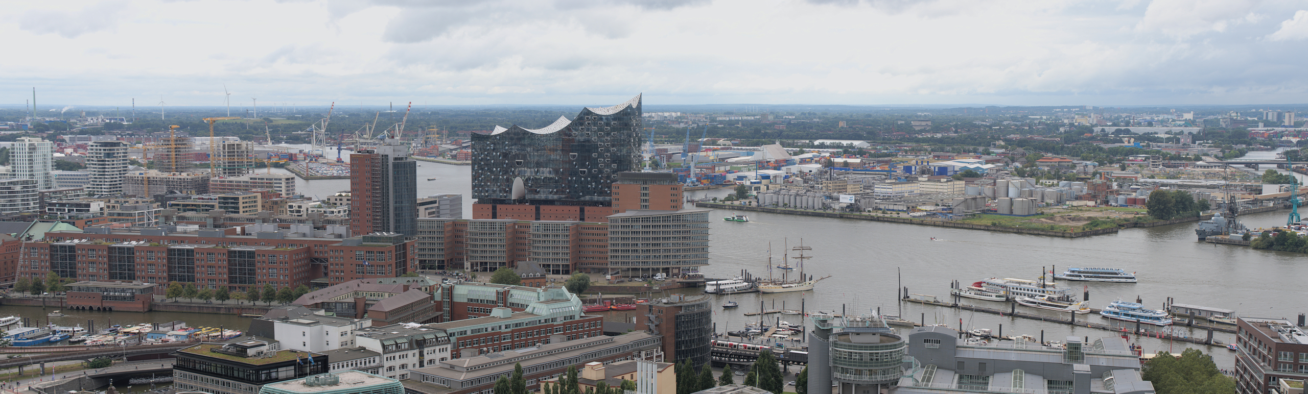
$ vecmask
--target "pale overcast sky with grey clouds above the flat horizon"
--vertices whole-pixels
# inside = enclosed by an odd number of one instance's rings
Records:
[[[8,1],[0,104],[1308,103],[1288,0]],[[230,95],[225,94],[230,93]]]

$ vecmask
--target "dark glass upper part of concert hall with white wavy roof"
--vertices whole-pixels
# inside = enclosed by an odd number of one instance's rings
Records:
[[[472,198],[607,206],[617,174],[640,170],[641,141],[640,95],[613,107],[582,108],[573,120],[560,117],[542,129],[514,125],[475,133]]]

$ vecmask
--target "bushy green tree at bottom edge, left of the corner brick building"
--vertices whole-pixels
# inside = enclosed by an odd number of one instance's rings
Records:
[[[1222,374],[1213,356],[1197,348],[1186,348],[1180,357],[1159,354],[1144,364],[1142,376],[1158,394],[1235,393],[1235,380]]]

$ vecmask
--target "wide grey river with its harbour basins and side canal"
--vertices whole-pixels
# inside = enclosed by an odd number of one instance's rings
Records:
[[[1249,158],[1274,157],[1275,153],[1250,153]],[[283,172],[284,170],[273,168]],[[417,168],[420,196],[436,193],[460,193],[464,196],[464,217],[471,217],[470,166],[449,166],[422,162]],[[426,181],[428,177],[437,177]],[[349,180],[298,180],[297,188],[305,194],[326,197],[337,190],[347,190]],[[692,197],[726,196],[731,190],[717,189],[691,192]],[[1104,266],[1135,271],[1139,283],[1088,283],[1091,307],[1103,308],[1114,299],[1135,300],[1141,297],[1150,308],[1162,308],[1167,297],[1176,303],[1197,304],[1215,308],[1236,309],[1247,317],[1277,317],[1294,321],[1299,313],[1308,312],[1301,307],[1298,291],[1308,256],[1300,253],[1256,250],[1245,247],[1207,244],[1196,240],[1194,223],[1126,228],[1117,234],[1080,239],[1063,239],[1008,232],[990,232],[960,228],[926,227],[888,222],[854,219],[828,219],[799,215],[749,213],[749,223],[734,223],[717,219],[730,215],[730,211],[710,214],[710,262],[702,269],[710,278],[729,278],[748,269],[753,274],[766,275],[768,250],[772,250],[773,265],[783,254],[783,245],[797,245],[800,241],[812,247],[811,258],[806,266],[808,274],[831,278],[821,280],[815,291],[806,294],[746,294],[714,296],[714,321],[718,333],[739,330],[748,320],[744,312],[759,309],[760,301],[766,308],[841,311],[867,313],[882,308],[886,314],[900,314],[908,320],[925,320],[926,324],[950,324],[964,327],[989,327],[998,330],[1003,325],[1006,335],[1032,334],[1044,330],[1046,341],[1061,341],[1065,335],[1107,337],[1109,331],[1074,327],[1054,322],[1041,322],[1012,317],[999,317],[988,313],[971,313],[959,309],[925,307],[896,303],[896,288],[908,287],[912,294],[935,295],[947,299],[951,280],[972,283],[984,278],[1027,278],[1033,279],[1041,269],[1057,266]],[[1283,224],[1287,211],[1271,211],[1241,217],[1249,227],[1270,227]],[[933,237],[938,240],[931,240]],[[903,283],[903,284],[901,284]],[[1062,283],[1067,284],[1067,283]],[[1087,286],[1075,282],[1071,287]],[[679,290],[697,292],[696,290]],[[717,305],[726,300],[736,300],[740,308],[721,309]],[[964,300],[991,308],[1005,308],[997,303]],[[773,304],[774,303],[774,304]],[[903,311],[900,309],[903,308]],[[1022,308],[1022,307],[1019,307]],[[46,309],[50,311],[50,309]],[[1024,312],[1033,312],[1024,308]],[[1066,314],[1050,311],[1048,316],[1066,318]],[[55,318],[61,325],[82,324],[95,320],[95,325],[183,320],[192,325],[245,329],[249,318],[198,313],[97,313],[65,311],[68,317]],[[623,320],[621,312],[612,312],[612,320]],[[41,308],[3,307],[0,314],[44,316]],[[627,317],[636,314],[628,313]],[[797,316],[772,314],[768,320],[790,320]],[[1078,320],[1110,324],[1097,314],[1082,314]],[[1185,331],[1182,327],[1177,330]],[[1192,337],[1203,337],[1196,330]],[[1218,333],[1224,343],[1232,342],[1232,334]],[[1133,339],[1137,341],[1137,339]],[[1144,352],[1180,352],[1186,347],[1198,347],[1214,355],[1219,368],[1233,365],[1233,352],[1222,347],[1206,347],[1190,343],[1168,343],[1158,339],[1138,339]]]

